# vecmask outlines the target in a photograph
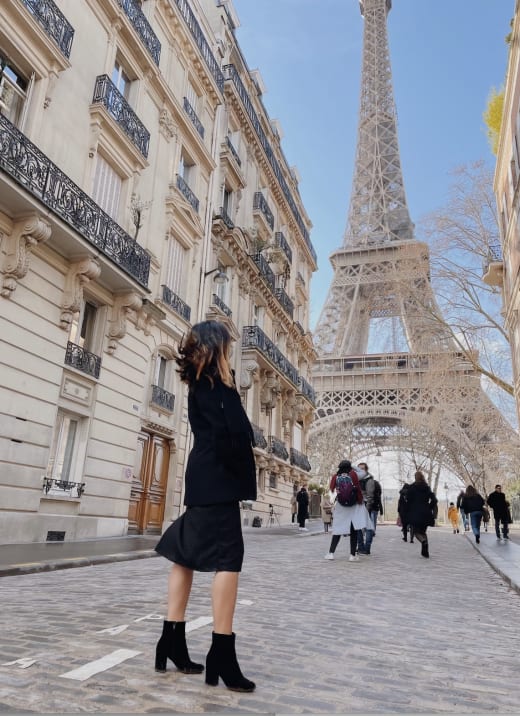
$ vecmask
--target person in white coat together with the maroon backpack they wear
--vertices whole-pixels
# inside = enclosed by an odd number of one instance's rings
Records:
[[[334,552],[342,535],[350,535],[350,562],[359,562],[356,554],[357,530],[371,529],[370,517],[363,503],[363,493],[359,478],[352,469],[350,460],[342,460],[338,471],[330,481],[330,491],[336,493],[334,517],[332,521],[332,540],[325,559],[334,559]]]

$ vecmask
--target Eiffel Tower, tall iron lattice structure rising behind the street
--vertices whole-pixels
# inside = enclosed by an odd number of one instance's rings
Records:
[[[343,245],[316,331],[309,453],[326,477],[338,459],[429,456],[487,491],[516,433],[439,321],[428,246],[404,189],[388,47],[391,0],[360,0],[363,63],[354,178]],[[407,349],[367,354],[374,319],[399,321]],[[372,324],[373,325],[373,324]],[[430,473],[432,474],[432,473]]]

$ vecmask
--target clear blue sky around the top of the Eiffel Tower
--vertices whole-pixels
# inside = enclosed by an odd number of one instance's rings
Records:
[[[357,141],[363,18],[358,0],[234,0],[236,35],[266,85],[282,148],[300,175],[318,271],[313,329],[345,231]],[[463,164],[494,165],[482,114],[507,69],[515,0],[393,0],[388,37],[401,165],[412,221],[445,205]],[[420,239],[420,236],[417,236]]]

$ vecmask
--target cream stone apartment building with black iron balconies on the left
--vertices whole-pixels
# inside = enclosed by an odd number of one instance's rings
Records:
[[[0,9],[0,541],[159,533],[190,435],[175,372],[224,321],[289,519],[315,359],[298,175],[223,0]],[[249,510],[244,513],[248,520]]]

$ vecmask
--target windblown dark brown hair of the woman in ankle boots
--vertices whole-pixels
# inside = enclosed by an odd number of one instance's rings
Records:
[[[191,331],[179,345],[179,355],[175,359],[181,380],[192,385],[205,375],[213,384],[219,377],[230,388],[234,385],[229,350],[231,335],[219,321],[202,321],[192,326]]]

